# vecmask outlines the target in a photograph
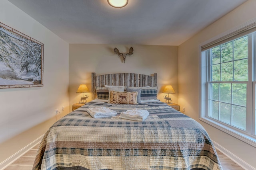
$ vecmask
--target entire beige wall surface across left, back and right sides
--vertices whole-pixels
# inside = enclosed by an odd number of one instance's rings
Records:
[[[62,116],[71,111],[72,104],[79,102],[82,96],[76,94],[79,84],[87,84],[91,89],[91,72],[158,73],[158,98],[164,101],[163,87],[172,84],[176,91],[176,94],[170,94],[173,102],[179,103],[181,108],[186,107],[185,113],[199,121],[199,45],[256,18],[255,7],[256,1],[249,0],[179,47],[68,45],[7,0],[0,0],[0,21],[45,45],[44,87],[0,89],[0,162],[45,133],[59,119],[58,115],[55,116],[55,109],[61,110],[64,106]],[[134,55],[127,57],[124,64],[114,54],[114,47],[125,53],[131,46]],[[91,99],[91,94],[88,95]],[[256,167],[254,147],[199,122],[212,140]]]

